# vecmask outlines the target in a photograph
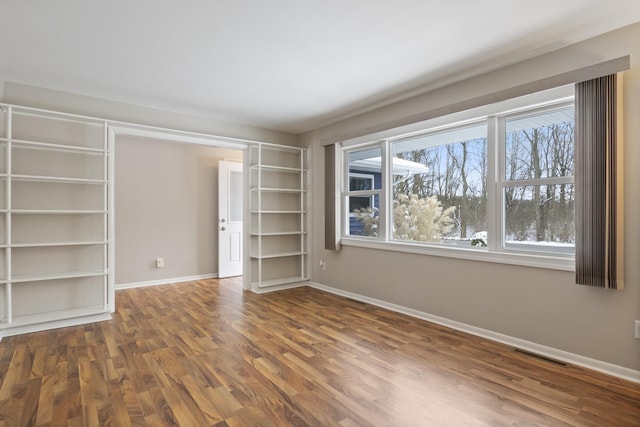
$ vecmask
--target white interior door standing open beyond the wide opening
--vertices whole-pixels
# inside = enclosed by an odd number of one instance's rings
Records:
[[[242,163],[218,163],[218,277],[242,275]]]

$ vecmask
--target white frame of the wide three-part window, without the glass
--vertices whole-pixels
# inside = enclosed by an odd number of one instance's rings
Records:
[[[368,141],[366,136],[354,138],[350,141],[343,141],[338,145],[342,150],[341,159],[343,162],[343,168],[341,176],[337,177],[341,182],[341,244],[346,246],[358,246],[413,254],[574,271],[575,256],[573,253],[550,253],[544,250],[525,251],[519,248],[506,247],[504,244],[506,235],[506,229],[504,227],[504,186],[506,181],[506,145],[504,129],[506,120],[518,115],[564,108],[572,104],[573,86],[564,86],[492,105],[478,107],[472,110],[438,117],[421,123],[414,123],[403,128],[382,132],[383,135],[380,135],[381,133],[370,135],[371,139]],[[486,248],[461,248],[446,247],[432,243],[394,240],[393,236],[387,236],[387,230],[391,230],[390,222],[392,221],[388,206],[388,201],[392,199],[391,193],[393,191],[392,183],[390,183],[389,178],[389,174],[392,173],[392,171],[391,165],[389,164],[390,162],[387,160],[390,158],[392,150],[391,144],[399,139],[406,139],[407,137],[442,131],[444,129],[468,126],[469,123],[478,121],[486,121],[487,123],[487,232],[489,236],[493,235],[499,237],[489,239]],[[403,132],[403,130],[405,132]],[[384,135],[384,133],[386,133],[386,135]],[[374,137],[376,138],[374,139]],[[345,234],[349,232],[349,214],[346,212],[347,209],[345,208],[345,203],[347,203],[346,197],[351,195],[373,195],[369,192],[367,192],[367,194],[363,194],[363,192],[348,191],[348,187],[345,187],[345,181],[346,185],[348,185],[349,176],[348,154],[353,151],[363,148],[371,148],[374,146],[380,146],[382,153],[381,189],[371,192],[379,194],[379,234],[374,237],[348,235]],[[571,177],[570,180],[571,183],[573,183],[573,177]],[[532,185],[529,180],[525,181],[525,184],[520,185]],[[509,185],[513,186],[514,182],[509,181]]]

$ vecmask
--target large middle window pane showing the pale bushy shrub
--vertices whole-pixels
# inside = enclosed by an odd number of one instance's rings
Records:
[[[487,125],[399,140],[392,152],[393,238],[482,246],[472,240],[487,229]]]

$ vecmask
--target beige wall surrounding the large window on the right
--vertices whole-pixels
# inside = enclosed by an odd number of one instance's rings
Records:
[[[640,24],[398,102],[301,137],[312,148],[312,280],[544,346],[640,371]],[[323,149],[580,67],[631,54],[624,73],[626,289],[574,284],[572,272],[343,247],[323,249]],[[327,261],[326,271],[318,268]]]

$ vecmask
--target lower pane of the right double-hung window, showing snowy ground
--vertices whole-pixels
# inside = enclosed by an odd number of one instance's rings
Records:
[[[573,253],[573,184],[507,187],[505,247]]]

